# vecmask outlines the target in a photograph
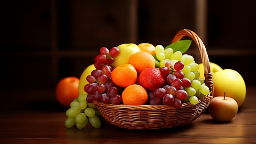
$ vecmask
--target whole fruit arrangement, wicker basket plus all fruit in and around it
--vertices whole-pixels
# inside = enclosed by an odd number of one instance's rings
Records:
[[[192,42],[180,40],[184,36],[195,41],[202,63],[184,54]],[[105,120],[126,129],[180,127],[197,119],[208,106],[214,120],[227,122],[245,100],[243,77],[210,63],[202,40],[187,29],[165,48],[121,44],[110,50],[102,47],[99,53],[81,74],[78,87],[73,78],[61,80],[56,87],[58,101],[70,104],[67,128],[99,128]],[[74,88],[79,96],[72,101]]]

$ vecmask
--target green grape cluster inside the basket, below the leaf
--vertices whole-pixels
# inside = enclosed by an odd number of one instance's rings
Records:
[[[199,65],[194,61],[194,57],[187,54],[182,54],[180,51],[173,51],[172,48],[164,48],[162,45],[155,46],[156,64],[159,68],[166,67],[170,69],[173,74],[175,72],[174,64],[177,61],[182,61],[184,67],[180,70],[183,74],[181,78],[187,78],[191,81],[189,87],[181,87],[187,92],[187,98],[182,99],[183,102],[190,102],[193,105],[198,103],[198,98],[204,97],[209,94],[210,89],[204,83],[204,80],[200,78]],[[172,64],[170,64],[171,61]],[[168,64],[166,63],[168,62]]]

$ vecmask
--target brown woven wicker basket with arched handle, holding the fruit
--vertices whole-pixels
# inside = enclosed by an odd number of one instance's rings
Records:
[[[209,95],[200,98],[197,105],[192,105],[190,102],[182,103],[180,109],[167,105],[104,105],[94,101],[94,105],[97,105],[107,122],[130,130],[166,129],[189,124],[204,112],[212,98],[213,89],[209,58],[202,40],[193,31],[188,29],[179,31],[172,43],[184,36],[191,37],[199,48],[204,63],[205,83],[211,89]]]

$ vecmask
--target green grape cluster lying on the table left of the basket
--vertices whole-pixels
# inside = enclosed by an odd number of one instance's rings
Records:
[[[97,129],[101,127],[99,109],[92,103],[87,103],[87,95],[81,94],[70,103],[70,108],[66,111],[65,127],[71,128],[76,125],[78,129],[83,129],[88,123]]]

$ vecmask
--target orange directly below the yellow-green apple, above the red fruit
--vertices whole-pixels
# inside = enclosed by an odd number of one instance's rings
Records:
[[[145,68],[155,68],[155,58],[148,52],[140,51],[130,56],[129,62],[140,74]]]

